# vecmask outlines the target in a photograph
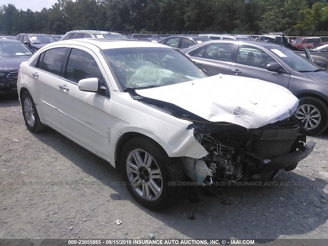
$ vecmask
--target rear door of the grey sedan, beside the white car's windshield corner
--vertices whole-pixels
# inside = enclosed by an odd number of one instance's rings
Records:
[[[194,60],[201,68],[212,76],[219,73],[229,74],[233,56],[234,44],[231,43],[213,43],[198,49],[196,52],[190,52]]]

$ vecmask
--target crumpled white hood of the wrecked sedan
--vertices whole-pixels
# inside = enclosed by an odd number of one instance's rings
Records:
[[[284,87],[222,74],[136,93],[174,104],[212,122],[230,122],[250,129],[288,118],[298,105],[298,98]]]

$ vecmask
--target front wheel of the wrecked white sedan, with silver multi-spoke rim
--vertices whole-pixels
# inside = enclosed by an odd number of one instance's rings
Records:
[[[136,137],[122,149],[120,165],[127,188],[143,206],[159,210],[175,202],[184,179],[181,164],[152,140]]]

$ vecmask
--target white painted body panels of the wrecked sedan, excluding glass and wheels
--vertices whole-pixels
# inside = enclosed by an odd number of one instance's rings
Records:
[[[110,98],[80,91],[77,85],[69,84],[59,76],[29,66],[40,53],[54,47],[75,47],[88,51],[106,79]],[[193,129],[189,129],[191,121],[174,117],[120,91],[101,49],[128,47],[172,49],[152,42],[130,40],[105,42],[104,39],[72,39],[49,44],[22,63],[18,75],[18,95],[22,88],[28,89],[43,124],[109,161],[112,166],[116,164],[119,139],[131,132],[155,140],[170,157],[199,159],[206,156],[208,152],[194,137]],[[38,76],[33,76],[33,73],[38,73]],[[60,89],[58,85],[65,85],[69,90]],[[137,92],[142,96],[172,102],[210,121],[226,121],[246,128],[282,120],[289,116],[286,115],[289,109],[297,104],[297,98],[280,86],[226,75]]]

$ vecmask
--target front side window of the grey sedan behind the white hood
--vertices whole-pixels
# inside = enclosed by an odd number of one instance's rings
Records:
[[[269,63],[274,62],[276,62],[274,58],[259,48],[248,45],[239,46],[237,53],[238,64],[265,69]]]

